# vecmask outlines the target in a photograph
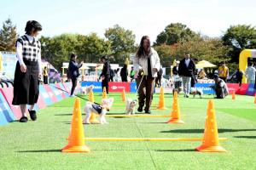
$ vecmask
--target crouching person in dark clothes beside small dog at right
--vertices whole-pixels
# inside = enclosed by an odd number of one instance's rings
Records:
[[[210,86],[215,91],[217,99],[224,99],[229,94],[229,88],[223,79],[218,77],[217,74],[213,76],[215,82],[214,85]]]

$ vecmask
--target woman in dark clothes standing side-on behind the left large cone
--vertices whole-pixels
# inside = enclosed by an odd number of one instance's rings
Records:
[[[83,65],[83,61],[81,63],[78,63],[77,58],[78,58],[78,56],[76,54],[71,54],[70,60],[69,60],[69,65],[68,65],[68,73],[69,73],[69,77],[71,78],[71,81],[72,81],[70,97],[74,96],[73,92],[74,92],[75,88],[77,87],[78,77],[80,76],[79,68],[81,68]]]

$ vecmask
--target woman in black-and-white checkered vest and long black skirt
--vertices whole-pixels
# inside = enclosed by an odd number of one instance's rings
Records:
[[[38,102],[39,78],[42,77],[41,43],[36,38],[42,26],[36,20],[26,22],[26,34],[16,41],[16,57],[13,105],[20,105],[20,122],[27,122],[26,105],[32,121],[37,120],[34,105]]]

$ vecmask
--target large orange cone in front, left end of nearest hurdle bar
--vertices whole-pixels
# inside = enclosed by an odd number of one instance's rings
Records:
[[[80,110],[80,100],[75,99],[73,108],[73,117],[71,130],[68,137],[68,144],[62,152],[90,152],[88,146],[84,144],[84,127],[82,123],[82,115]]]

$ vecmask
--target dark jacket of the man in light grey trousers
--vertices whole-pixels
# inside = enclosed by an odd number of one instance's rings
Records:
[[[185,63],[185,59],[180,61],[178,65],[178,75],[182,77],[192,77],[195,75],[195,62],[193,59],[190,59],[189,65]]]

